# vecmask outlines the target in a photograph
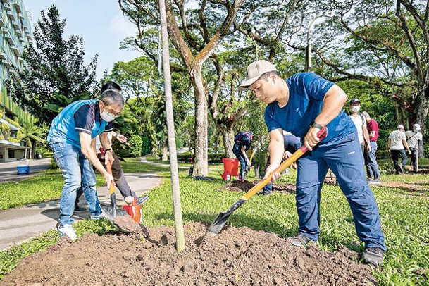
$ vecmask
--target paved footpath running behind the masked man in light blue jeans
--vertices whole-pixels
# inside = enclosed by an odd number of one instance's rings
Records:
[[[125,177],[138,196],[156,187],[161,181],[155,173],[132,173],[125,174]],[[97,188],[97,193],[101,204],[110,204],[110,195],[106,187]],[[121,206],[123,197],[118,190],[116,190],[116,198],[118,206]],[[80,206],[87,207],[84,197],[80,199]],[[13,243],[21,243],[37,237],[42,232],[56,229],[59,210],[59,200],[53,200],[0,211],[0,250],[12,247]],[[75,213],[74,217],[75,220],[89,218],[89,211]]]

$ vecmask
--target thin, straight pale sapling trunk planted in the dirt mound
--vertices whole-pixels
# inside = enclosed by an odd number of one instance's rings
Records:
[[[182,204],[180,203],[178,156],[176,153],[176,139],[175,139],[175,128],[174,128],[174,117],[173,117],[173,96],[171,94],[170,52],[168,51],[168,32],[167,32],[165,0],[159,0],[159,11],[161,14],[163,71],[164,71],[164,86],[166,89],[167,130],[168,130],[168,144],[170,146],[170,171],[171,171],[171,185],[172,185],[172,193],[173,193],[176,249],[178,252],[180,252],[183,249],[185,249],[185,232],[183,230]]]

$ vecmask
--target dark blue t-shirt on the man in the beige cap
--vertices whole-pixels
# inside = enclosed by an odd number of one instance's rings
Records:
[[[265,122],[268,132],[282,128],[304,141],[311,122],[322,111],[323,98],[334,85],[314,73],[297,73],[286,80],[289,87],[289,101],[280,108],[274,101],[265,110]],[[321,141],[325,144],[356,132],[352,120],[342,110],[327,126],[328,136]]]

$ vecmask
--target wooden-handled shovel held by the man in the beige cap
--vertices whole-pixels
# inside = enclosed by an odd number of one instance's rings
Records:
[[[322,140],[326,137],[326,135],[328,135],[328,129],[324,127],[318,132],[317,137]],[[230,209],[228,209],[228,211],[221,211],[218,216],[216,216],[215,220],[213,220],[213,223],[211,223],[211,225],[209,226],[209,230],[207,230],[206,235],[208,235],[209,237],[218,235],[219,232],[225,226],[226,221],[231,216],[233,211],[240,208],[242,204],[244,204],[248,199],[253,197],[254,194],[259,192],[265,185],[267,185],[268,182],[271,181],[271,177],[274,175],[274,173],[282,173],[285,168],[289,167],[292,163],[294,163],[294,161],[297,161],[297,159],[301,157],[306,151],[308,151],[308,149],[305,146],[299,148],[294,154],[292,154],[292,156],[287,158],[286,161],[284,161],[280,164],[280,166],[275,168],[275,170],[273,170],[273,172],[271,172],[266,179],[261,180],[261,182],[257,183],[254,187],[249,189],[249,192],[244,194],[243,197],[236,201],[235,204],[233,204]]]

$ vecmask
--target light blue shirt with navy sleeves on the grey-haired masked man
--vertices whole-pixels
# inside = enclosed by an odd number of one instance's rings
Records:
[[[51,123],[48,142],[67,142],[80,148],[79,132],[92,138],[112,130],[112,123],[101,120],[98,99],[80,100],[69,104]]]

